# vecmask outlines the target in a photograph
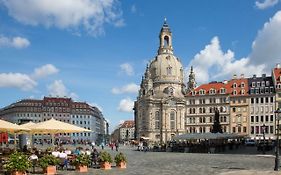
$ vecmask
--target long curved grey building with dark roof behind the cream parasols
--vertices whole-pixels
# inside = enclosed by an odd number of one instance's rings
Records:
[[[71,98],[23,99],[2,108],[0,116],[4,120],[18,124],[28,121],[38,123],[54,118],[92,130],[85,133],[56,135],[61,140],[96,141],[99,137],[104,137],[107,130],[105,128],[107,122],[98,108],[86,102],[75,102]],[[36,138],[44,139],[45,137],[37,136]]]

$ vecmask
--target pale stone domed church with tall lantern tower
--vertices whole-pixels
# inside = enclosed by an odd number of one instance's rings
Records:
[[[174,55],[172,32],[165,19],[158,54],[147,66],[134,104],[136,137],[166,142],[184,133],[185,85],[183,66]]]

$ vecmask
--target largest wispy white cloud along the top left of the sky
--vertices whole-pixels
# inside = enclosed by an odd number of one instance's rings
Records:
[[[82,27],[93,36],[103,34],[105,24],[122,26],[123,21],[120,3],[117,0],[2,0],[2,2],[7,7],[9,15],[23,24],[73,30]]]

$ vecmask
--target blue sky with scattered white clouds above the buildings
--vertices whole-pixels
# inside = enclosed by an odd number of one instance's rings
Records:
[[[131,110],[164,17],[198,84],[281,62],[280,0],[0,0],[0,107],[70,96],[111,128]]]

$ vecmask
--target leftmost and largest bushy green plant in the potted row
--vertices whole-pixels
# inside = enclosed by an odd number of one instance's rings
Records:
[[[23,175],[31,167],[31,162],[28,160],[27,155],[22,152],[14,152],[9,156],[4,169],[11,172],[13,175]]]

